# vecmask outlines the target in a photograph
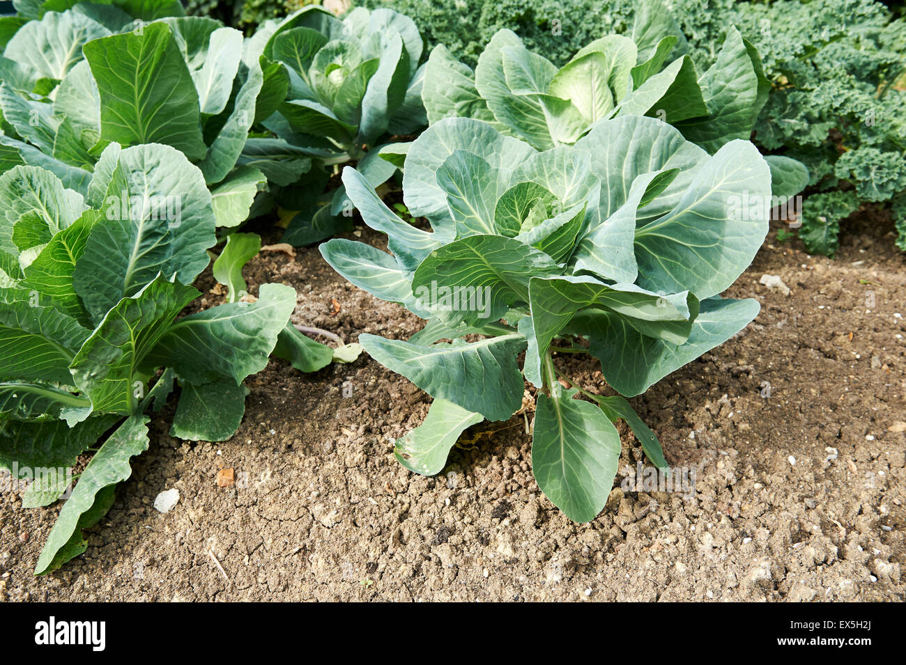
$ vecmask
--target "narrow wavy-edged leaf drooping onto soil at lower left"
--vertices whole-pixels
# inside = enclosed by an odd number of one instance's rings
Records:
[[[47,537],[35,575],[50,573],[85,551],[82,529],[93,526],[110,508],[112,494],[105,495],[130,477],[130,458],[148,450],[148,421],[148,416],[140,413],[131,416],[88,462]]]

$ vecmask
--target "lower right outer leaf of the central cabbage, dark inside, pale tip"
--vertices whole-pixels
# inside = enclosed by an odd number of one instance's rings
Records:
[[[643,336],[624,318],[605,312],[583,312],[582,323],[575,328],[589,336],[592,354],[601,361],[607,383],[632,397],[726,342],[757,316],[758,309],[754,299],[702,300],[689,340],[681,345]]]

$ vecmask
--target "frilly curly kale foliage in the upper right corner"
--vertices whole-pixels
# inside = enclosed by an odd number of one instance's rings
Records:
[[[811,174],[806,249],[833,255],[843,218],[889,202],[906,251],[906,20],[873,0],[675,0],[672,13],[703,67],[728,24],[764,58],[773,87],[754,140]]]

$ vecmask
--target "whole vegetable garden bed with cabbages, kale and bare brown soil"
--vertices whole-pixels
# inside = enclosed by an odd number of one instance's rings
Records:
[[[901,596],[906,19],[696,1],[15,3],[0,600]]]

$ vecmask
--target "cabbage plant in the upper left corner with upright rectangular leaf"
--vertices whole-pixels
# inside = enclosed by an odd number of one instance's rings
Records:
[[[265,184],[237,163],[265,71],[240,62],[242,33],[168,13],[182,8],[78,4],[24,23],[13,17],[21,24],[0,58],[0,172],[42,166],[86,195],[111,142],[161,143],[201,169],[218,225],[244,222]]]

